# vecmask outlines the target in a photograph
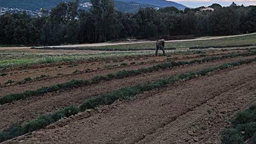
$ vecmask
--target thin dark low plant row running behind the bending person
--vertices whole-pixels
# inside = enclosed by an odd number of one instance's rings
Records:
[[[104,48],[104,47],[32,47],[31,49],[65,49],[65,50],[95,50],[95,51],[140,51],[140,50],[154,50],[150,48]],[[175,47],[166,47],[167,50],[176,49]]]

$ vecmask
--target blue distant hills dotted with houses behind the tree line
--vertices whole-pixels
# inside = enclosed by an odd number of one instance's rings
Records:
[[[39,10],[40,8],[51,9],[58,3],[75,0],[0,0],[0,6],[9,8],[21,8],[26,10]],[[86,8],[89,6],[89,0],[80,0],[79,7]],[[179,3],[165,0],[117,0],[115,7],[122,12],[136,12],[140,7],[155,7],[162,8],[167,6],[174,6],[183,10],[186,6]]]

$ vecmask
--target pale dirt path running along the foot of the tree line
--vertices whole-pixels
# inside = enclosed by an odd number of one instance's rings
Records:
[[[229,35],[229,36],[209,36],[209,37],[200,37],[195,39],[189,40],[168,40],[166,42],[187,42],[187,41],[197,41],[197,40],[215,40],[221,38],[233,38],[238,36],[245,36],[245,35],[253,35],[256,33],[250,34],[243,34],[243,35]],[[126,44],[138,44],[138,43],[154,43],[155,41],[137,41],[137,42],[102,42],[102,43],[93,43],[93,44],[79,44],[79,45],[60,45],[60,46],[50,46],[50,47],[99,47],[99,46],[110,46],[110,45],[126,45]],[[10,50],[10,49],[28,49],[31,47],[0,47],[0,50]]]

